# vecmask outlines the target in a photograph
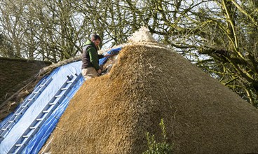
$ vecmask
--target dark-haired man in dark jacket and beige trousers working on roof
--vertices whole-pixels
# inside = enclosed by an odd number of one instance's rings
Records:
[[[99,59],[107,57],[110,55],[98,55],[97,47],[101,43],[101,38],[97,34],[93,34],[91,39],[88,39],[84,43],[83,54],[82,54],[82,66],[81,73],[84,76],[85,80],[90,78],[95,78],[97,75],[102,73],[102,70],[99,66]]]

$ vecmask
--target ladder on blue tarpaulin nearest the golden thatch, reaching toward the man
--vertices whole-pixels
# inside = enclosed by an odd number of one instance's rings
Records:
[[[43,108],[41,113],[33,120],[32,124],[29,125],[27,130],[18,138],[18,140],[13,144],[8,153],[21,153],[22,150],[27,146],[30,139],[34,137],[36,132],[39,131],[43,123],[48,119],[48,117],[57,109],[57,106],[62,102],[62,100],[67,96],[69,91],[72,89],[73,85],[81,78],[81,73],[79,75],[75,74],[67,76],[67,80],[60,87],[60,89],[55,93],[55,95],[50,99],[50,102]]]

